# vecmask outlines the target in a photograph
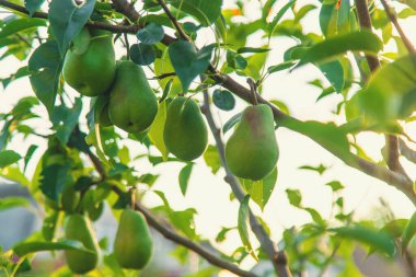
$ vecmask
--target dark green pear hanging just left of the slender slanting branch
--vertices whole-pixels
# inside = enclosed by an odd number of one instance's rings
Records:
[[[167,107],[163,139],[167,150],[184,161],[201,155],[208,146],[208,131],[198,104],[184,96]]]

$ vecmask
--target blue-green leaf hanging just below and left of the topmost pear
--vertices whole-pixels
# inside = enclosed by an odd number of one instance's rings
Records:
[[[53,128],[56,130],[56,136],[62,145],[67,145],[73,128],[78,125],[81,111],[81,99],[76,99],[71,108],[65,104],[54,108],[50,120],[54,124]]]

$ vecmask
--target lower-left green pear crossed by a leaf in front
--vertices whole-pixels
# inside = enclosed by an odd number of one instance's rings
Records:
[[[65,256],[69,269],[76,274],[84,274],[94,269],[99,263],[99,243],[86,217],[71,215],[65,229],[66,238],[80,241],[91,253],[80,250],[66,250]]]

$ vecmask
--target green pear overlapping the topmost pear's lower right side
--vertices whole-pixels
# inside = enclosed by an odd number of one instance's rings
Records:
[[[158,99],[145,71],[132,61],[117,64],[108,111],[113,124],[128,132],[149,129],[158,114]]]

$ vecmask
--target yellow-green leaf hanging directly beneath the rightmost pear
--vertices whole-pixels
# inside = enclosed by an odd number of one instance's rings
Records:
[[[251,195],[253,201],[255,201],[262,210],[266,207],[266,204],[270,199],[273,189],[275,188],[277,181],[277,168],[261,181],[242,180],[247,193]]]

